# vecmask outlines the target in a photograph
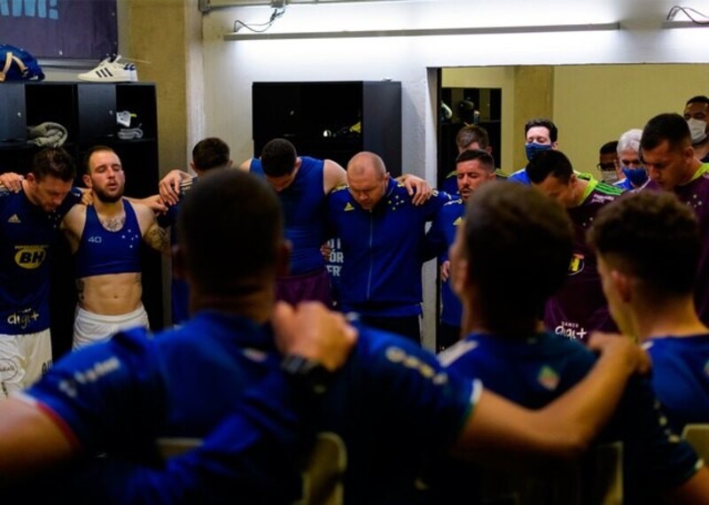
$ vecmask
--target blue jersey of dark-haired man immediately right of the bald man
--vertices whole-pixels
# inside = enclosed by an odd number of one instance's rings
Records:
[[[433,220],[431,229],[426,233],[426,247],[439,257],[440,262],[448,260],[448,247],[456,239],[456,229],[463,222],[465,204],[461,199],[448,202],[440,209]],[[450,277],[440,284],[440,299],[443,305],[440,311],[440,321],[450,326],[460,326],[463,317],[463,305],[456,293],[451,289]]]

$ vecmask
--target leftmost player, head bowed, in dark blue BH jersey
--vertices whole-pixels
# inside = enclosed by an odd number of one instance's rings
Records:
[[[59,222],[81,201],[74,175],[54,147],[35,154],[24,179],[0,175],[0,400],[51,366],[50,262]]]

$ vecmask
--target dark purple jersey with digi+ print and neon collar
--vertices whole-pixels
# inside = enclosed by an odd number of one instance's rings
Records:
[[[584,342],[591,331],[616,330],[596,269],[596,254],[586,243],[586,231],[598,210],[620,194],[618,188],[590,180],[580,205],[568,209],[574,229],[573,257],[566,282],[544,308],[544,323],[558,335]]]

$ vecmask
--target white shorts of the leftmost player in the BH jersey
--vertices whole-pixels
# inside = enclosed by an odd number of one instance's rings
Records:
[[[33,384],[51,367],[50,330],[0,335],[0,398]]]

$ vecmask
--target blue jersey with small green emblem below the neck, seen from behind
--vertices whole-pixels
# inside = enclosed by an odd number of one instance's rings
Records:
[[[580,382],[596,358],[578,342],[552,333],[526,340],[473,333],[448,348],[440,360],[462,376],[478,377],[487,389],[536,409]],[[650,502],[651,497],[685,482],[700,464],[685,441],[666,431],[655,403],[649,383],[632,380],[601,436],[600,441],[623,442],[625,503]],[[454,497],[471,494],[474,469],[448,463],[450,467],[440,467],[440,474],[436,474],[442,479],[436,481],[436,493]]]

